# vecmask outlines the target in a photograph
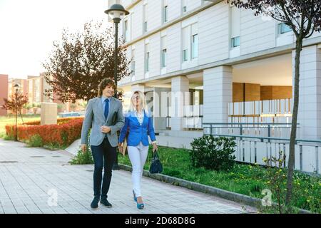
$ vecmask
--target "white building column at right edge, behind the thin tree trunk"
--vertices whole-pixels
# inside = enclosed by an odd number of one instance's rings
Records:
[[[300,58],[300,93],[297,137],[321,138],[321,47],[317,45],[302,49]],[[292,52],[293,93],[295,78],[295,51]]]

